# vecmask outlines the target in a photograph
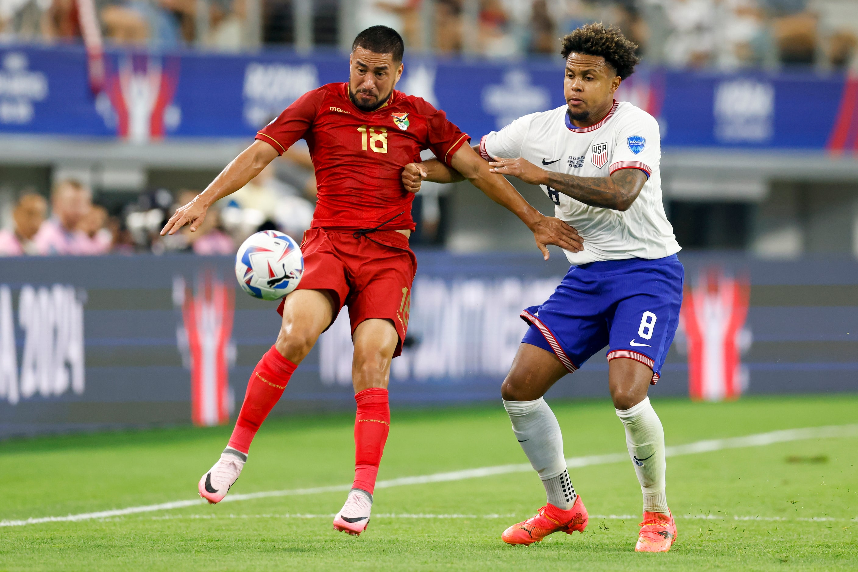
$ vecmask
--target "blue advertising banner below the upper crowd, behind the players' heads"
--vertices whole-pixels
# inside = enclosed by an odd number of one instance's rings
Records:
[[[0,47],[0,133],[252,137],[302,93],[347,80],[347,57],[291,51],[106,55],[88,87],[76,47]],[[564,105],[561,62],[406,59],[398,87],[447,111],[474,140]],[[855,149],[858,83],[812,72],[639,69],[618,92],[662,125],[665,147]]]

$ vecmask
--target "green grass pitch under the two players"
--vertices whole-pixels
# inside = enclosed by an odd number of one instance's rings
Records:
[[[567,456],[625,451],[604,400],[554,401]],[[858,396],[654,400],[668,445],[858,423]],[[351,481],[352,415],[272,418],[233,494]],[[174,428],[0,443],[0,520],[196,497],[229,428]],[[0,570],[858,569],[858,437],[668,459],[678,540],[637,554],[640,488],[628,461],[571,471],[584,534],[511,547],[505,527],[545,501],[535,473],[376,491],[360,538],[336,533],[344,492],[88,521],[0,527]],[[526,462],[497,405],[394,410],[379,479]]]

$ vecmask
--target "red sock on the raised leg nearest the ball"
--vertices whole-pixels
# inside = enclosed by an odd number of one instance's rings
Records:
[[[271,408],[275,406],[286,384],[297,365],[280,355],[271,346],[259,360],[247,383],[245,402],[241,406],[239,419],[235,422],[233,436],[229,438],[229,446],[238,449],[245,455],[251,449],[251,441],[259,431],[259,425],[268,417]]]

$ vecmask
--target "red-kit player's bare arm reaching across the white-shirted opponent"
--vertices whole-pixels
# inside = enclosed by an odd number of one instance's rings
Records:
[[[562,220],[547,217],[533,208],[509,181],[489,171],[489,164],[474,149],[462,145],[453,154],[450,165],[462,173],[477,189],[486,193],[492,201],[515,213],[534,233],[536,245],[542,256],[548,260],[547,244],[578,252],[583,250],[583,238],[578,232]]]

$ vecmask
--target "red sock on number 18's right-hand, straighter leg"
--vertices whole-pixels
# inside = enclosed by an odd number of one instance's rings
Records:
[[[387,389],[369,388],[354,395],[358,413],[354,418],[354,485],[372,495],[378,465],[390,431]]]

